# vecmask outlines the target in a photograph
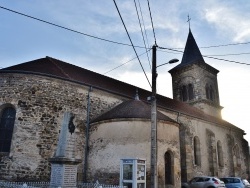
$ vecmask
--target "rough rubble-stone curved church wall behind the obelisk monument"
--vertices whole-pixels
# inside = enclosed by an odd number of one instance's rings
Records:
[[[83,85],[44,76],[1,73],[0,106],[11,104],[17,112],[11,151],[1,159],[1,179],[49,179],[48,158],[55,152],[66,111],[75,114],[76,158],[84,157],[88,90]],[[120,102],[121,99],[94,89],[90,118]]]

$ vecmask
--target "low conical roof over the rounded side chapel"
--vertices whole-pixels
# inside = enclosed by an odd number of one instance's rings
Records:
[[[140,118],[140,119],[151,119],[151,107],[141,100],[128,100],[125,101],[108,112],[100,115],[91,121],[91,123],[111,120],[111,119],[127,119],[127,118]],[[161,112],[157,112],[157,119],[177,123],[176,121],[170,119]]]

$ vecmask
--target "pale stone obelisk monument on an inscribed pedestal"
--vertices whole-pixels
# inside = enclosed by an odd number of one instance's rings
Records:
[[[56,153],[49,159],[51,163],[50,188],[76,187],[77,166],[80,159],[75,159],[74,115],[64,114]]]

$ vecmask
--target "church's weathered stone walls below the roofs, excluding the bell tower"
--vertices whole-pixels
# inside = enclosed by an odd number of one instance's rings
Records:
[[[16,109],[16,120],[11,151],[7,156],[1,157],[0,178],[22,181],[49,180],[50,164],[48,158],[51,158],[56,150],[63,114],[66,111],[75,114],[76,158],[81,158],[84,161],[88,92],[89,87],[87,86],[47,76],[1,73],[0,110],[6,105],[13,106]],[[120,96],[93,88],[93,91],[90,92],[90,118],[104,113],[123,100],[124,98]],[[214,173],[218,173],[219,176],[237,174],[243,177],[246,175],[249,166],[249,156],[246,152],[248,151],[246,150],[247,148],[244,148],[247,144],[243,140],[243,132],[240,129],[233,126],[216,125],[187,115],[178,114],[177,112],[167,111],[163,108],[160,110],[180,123],[179,133],[177,128],[168,127],[163,129],[164,126],[162,127],[161,124],[158,124],[161,127],[159,129],[162,129],[160,134],[168,135],[166,140],[159,141],[159,151],[163,154],[168,149],[171,149],[174,156],[174,164],[177,167],[177,161],[180,158],[179,156],[181,156],[181,175],[184,178],[183,180],[189,180],[195,175],[210,174],[208,159],[211,154],[208,153],[210,151],[208,150],[210,142],[206,136],[207,130],[214,133],[214,143],[217,143],[219,140],[222,143],[224,166],[216,167],[215,165],[217,164],[212,162],[213,166],[215,166],[214,169],[217,169],[217,172],[215,170]],[[120,123],[119,127],[122,126]],[[149,132],[143,132],[144,130],[141,127],[145,126],[149,129],[150,122],[147,122],[146,125],[144,124],[145,122],[138,123],[138,121],[127,122],[124,127],[136,130],[135,132],[130,132],[131,135],[127,137],[122,134],[123,132],[120,129],[117,129],[116,123],[108,125],[110,127],[106,130],[107,123],[93,130],[91,133],[92,139],[90,140],[89,180],[93,180],[94,177],[103,180],[107,179],[107,171],[105,169],[107,169],[107,166],[111,166],[108,181],[117,183],[118,173],[113,169],[117,169],[119,166],[120,156],[149,156],[150,147],[149,140],[147,140]],[[130,130],[127,130],[127,128],[125,128],[125,131],[129,132]],[[111,134],[112,131],[110,130],[115,130],[115,132]],[[133,135],[135,136],[135,133],[138,133],[139,137],[131,139]],[[148,138],[145,139],[143,135],[148,135]],[[180,151],[176,145],[179,135]],[[121,140],[119,136],[121,136]],[[200,139],[201,166],[194,165],[194,136]],[[139,138],[142,139],[140,143]],[[236,144],[239,147],[239,161],[241,165],[238,165],[239,162],[235,162],[234,152],[232,151]],[[213,147],[214,149],[211,151],[213,151],[215,158],[216,144]],[[121,148],[125,149],[122,150]],[[138,148],[140,148],[138,150],[140,152],[137,152]],[[118,153],[113,154],[115,150]],[[130,155],[129,151],[131,150],[133,153]],[[100,157],[104,156],[103,154],[107,154],[105,156],[107,161],[103,161],[102,157]],[[116,164],[113,164],[112,161],[108,161],[110,158],[118,159],[118,161],[116,161]],[[98,162],[99,160],[102,163]],[[149,168],[148,159],[147,162],[147,167]],[[163,158],[159,158],[159,182],[161,183],[163,182],[162,164]],[[80,164],[78,168],[80,176],[82,168],[83,164]],[[175,181],[177,181],[179,169],[175,169],[175,172],[174,177]],[[149,174],[147,175],[149,180]]]

